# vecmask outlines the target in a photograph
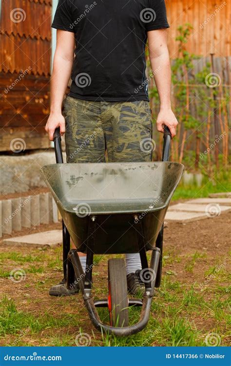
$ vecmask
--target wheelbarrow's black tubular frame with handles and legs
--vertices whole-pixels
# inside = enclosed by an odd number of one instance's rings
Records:
[[[62,149],[61,149],[61,136],[59,128],[55,130],[54,133],[54,145],[56,154],[56,163],[63,163]],[[171,147],[171,133],[167,126],[164,127],[164,144],[163,144],[163,154],[162,162],[169,161]],[[92,287],[92,268],[94,260],[94,242],[95,242],[95,232],[96,232],[97,215],[91,216],[88,226],[88,239],[87,239],[87,258],[86,258],[86,271],[85,274],[82,269],[82,265],[77,254],[77,249],[70,249],[70,234],[62,220],[62,239],[63,239],[63,275],[64,280],[67,284],[67,288],[72,288],[73,284],[76,283],[76,278],[79,280],[78,285],[83,296],[84,304],[87,308],[89,317],[93,325],[99,331],[104,331],[109,334],[115,334],[117,336],[128,336],[141,331],[148,323],[150,308],[152,304],[152,299],[154,296],[154,288],[159,287],[161,283],[161,273],[162,273],[162,254],[163,254],[163,233],[164,224],[159,231],[157,236],[155,247],[152,250],[152,256],[150,265],[148,265],[148,260],[145,251],[145,240],[143,235],[142,222],[136,224],[138,247],[140,254],[140,261],[142,270],[150,270],[148,281],[145,282],[145,293],[143,300],[132,299],[129,300],[129,306],[142,306],[141,315],[139,322],[135,325],[125,326],[125,327],[115,327],[105,325],[101,322],[97,307],[107,307],[108,300],[94,300],[91,287]],[[152,274],[155,274],[154,276]],[[150,281],[149,281],[150,279]]]

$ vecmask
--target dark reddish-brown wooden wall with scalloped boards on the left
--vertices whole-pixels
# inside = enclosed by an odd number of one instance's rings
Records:
[[[51,5],[50,0],[1,1],[0,151],[10,151],[17,138],[25,141],[26,149],[49,147],[44,125],[49,114]]]

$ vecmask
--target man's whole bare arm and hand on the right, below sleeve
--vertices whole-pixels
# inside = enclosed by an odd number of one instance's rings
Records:
[[[160,111],[156,120],[157,130],[164,132],[163,125],[166,125],[174,137],[178,122],[171,107],[171,64],[167,46],[167,31],[165,29],[149,31],[148,47],[154,81],[160,99]]]

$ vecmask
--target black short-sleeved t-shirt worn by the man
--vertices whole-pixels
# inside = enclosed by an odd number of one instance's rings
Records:
[[[149,100],[145,45],[169,27],[164,0],[59,0],[52,27],[75,33],[71,97]]]

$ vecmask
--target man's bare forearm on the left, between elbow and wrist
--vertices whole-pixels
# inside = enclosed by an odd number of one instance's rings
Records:
[[[51,76],[51,113],[61,112],[62,101],[70,79],[73,61],[55,55]]]

